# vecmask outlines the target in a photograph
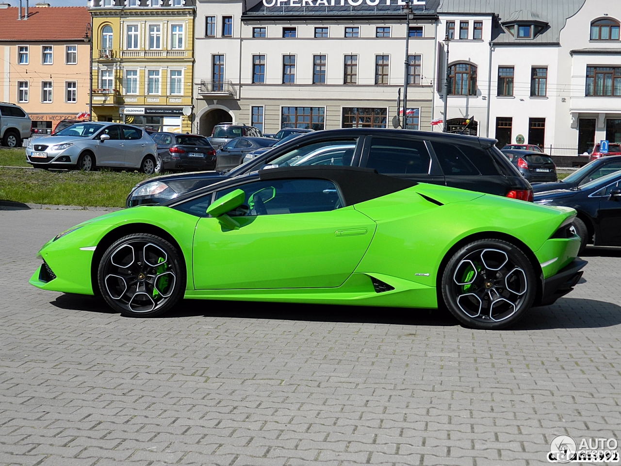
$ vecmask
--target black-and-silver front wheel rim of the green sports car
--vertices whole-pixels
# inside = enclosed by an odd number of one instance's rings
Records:
[[[150,313],[164,306],[176,281],[175,264],[165,250],[145,240],[119,245],[104,266],[108,296],[132,313]]]

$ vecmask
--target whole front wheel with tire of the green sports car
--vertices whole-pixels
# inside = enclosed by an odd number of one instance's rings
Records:
[[[186,274],[175,246],[156,235],[135,233],[104,252],[97,281],[115,311],[128,317],[153,317],[183,298]]]

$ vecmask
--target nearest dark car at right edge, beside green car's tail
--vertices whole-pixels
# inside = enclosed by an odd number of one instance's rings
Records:
[[[571,207],[578,211],[574,226],[587,244],[621,246],[621,171],[568,190],[535,194],[535,203]]]

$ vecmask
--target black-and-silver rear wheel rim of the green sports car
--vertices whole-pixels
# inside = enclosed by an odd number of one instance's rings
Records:
[[[458,308],[478,322],[501,322],[513,316],[527,297],[526,272],[512,254],[478,249],[455,268],[451,293]]]

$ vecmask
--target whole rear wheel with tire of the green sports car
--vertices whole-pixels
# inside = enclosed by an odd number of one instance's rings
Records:
[[[519,247],[486,239],[453,254],[441,286],[446,307],[464,326],[496,330],[524,316],[537,285],[532,263]]]

